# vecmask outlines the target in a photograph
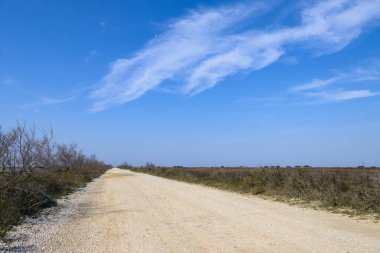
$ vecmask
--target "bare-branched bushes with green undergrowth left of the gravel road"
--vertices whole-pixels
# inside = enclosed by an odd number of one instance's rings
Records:
[[[76,145],[57,143],[52,131],[20,123],[7,131],[0,127],[0,236],[110,167]]]

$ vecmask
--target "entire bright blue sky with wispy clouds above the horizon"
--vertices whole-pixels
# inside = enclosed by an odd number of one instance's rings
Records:
[[[113,164],[380,165],[380,0],[0,0],[0,124]]]

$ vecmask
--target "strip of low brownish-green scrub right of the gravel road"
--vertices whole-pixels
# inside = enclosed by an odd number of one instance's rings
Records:
[[[186,168],[148,163],[144,167],[125,164],[122,168],[242,193],[313,201],[325,208],[380,214],[380,168],[376,167]]]

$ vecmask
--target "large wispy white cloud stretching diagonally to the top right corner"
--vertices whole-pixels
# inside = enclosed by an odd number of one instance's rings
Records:
[[[137,99],[171,79],[185,84],[182,92],[197,94],[228,76],[259,70],[300,48],[319,55],[333,53],[380,18],[380,0],[313,1],[300,10],[298,25],[241,29],[268,7],[245,2],[193,11],[172,21],[133,57],[110,64],[109,73],[93,92],[93,110]]]

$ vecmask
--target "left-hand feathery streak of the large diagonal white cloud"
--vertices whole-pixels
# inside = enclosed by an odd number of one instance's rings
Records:
[[[129,102],[165,80],[186,75],[201,59],[223,51],[228,43],[222,32],[257,9],[256,5],[237,5],[193,12],[174,21],[134,57],[111,64],[101,87],[93,93],[98,99],[94,111]]]

